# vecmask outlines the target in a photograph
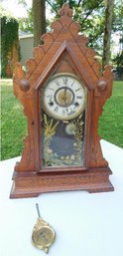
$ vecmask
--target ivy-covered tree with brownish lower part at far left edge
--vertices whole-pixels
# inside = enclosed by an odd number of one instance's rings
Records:
[[[0,8],[1,18],[1,76],[11,78],[20,59],[18,21]]]

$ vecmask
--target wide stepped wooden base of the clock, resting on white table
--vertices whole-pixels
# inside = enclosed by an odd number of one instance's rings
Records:
[[[87,190],[90,193],[113,191],[109,167],[72,172],[14,172],[10,198],[36,197],[41,193]]]

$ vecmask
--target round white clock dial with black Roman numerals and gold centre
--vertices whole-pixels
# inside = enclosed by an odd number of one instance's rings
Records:
[[[85,102],[85,87],[72,74],[58,74],[44,88],[43,108],[55,119],[74,119],[85,109]]]

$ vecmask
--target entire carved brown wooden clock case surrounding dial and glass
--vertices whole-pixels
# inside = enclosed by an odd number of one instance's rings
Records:
[[[43,35],[43,45],[34,49],[34,59],[27,61],[24,73],[17,63],[14,94],[24,107],[28,135],[20,162],[15,165],[10,197],[32,197],[43,192],[87,190],[112,191],[112,173],[103,158],[98,135],[102,107],[112,91],[111,68],[100,73],[95,52],[86,47],[87,38],[79,35],[79,24],[71,19],[72,10],[62,6],[60,19],[52,24],[53,31]],[[58,73],[75,74],[87,89],[84,166],[43,169],[41,165],[40,96],[46,81]]]

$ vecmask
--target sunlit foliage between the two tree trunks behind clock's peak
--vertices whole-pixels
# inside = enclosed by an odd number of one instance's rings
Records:
[[[103,0],[56,0],[47,2],[52,6],[53,13],[59,16],[58,10],[64,2],[68,2],[73,9],[73,19],[80,24],[80,31],[89,38],[89,46],[97,51],[101,50],[104,27],[104,1]]]

